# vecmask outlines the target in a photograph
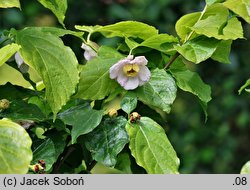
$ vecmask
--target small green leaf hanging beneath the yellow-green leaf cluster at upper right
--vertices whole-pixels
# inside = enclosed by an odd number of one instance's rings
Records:
[[[232,40],[221,40],[211,58],[220,63],[230,63],[231,45]]]

